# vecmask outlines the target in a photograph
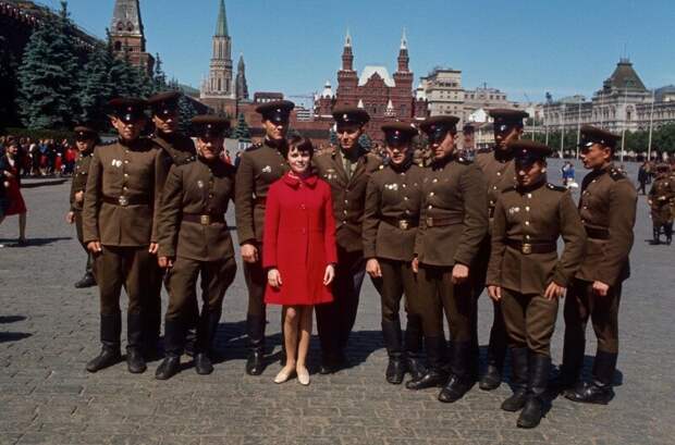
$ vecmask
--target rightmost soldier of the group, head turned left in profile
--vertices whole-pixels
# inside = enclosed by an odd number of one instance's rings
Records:
[[[579,214],[588,242],[586,258],[565,299],[565,346],[561,367],[565,397],[574,401],[608,404],[618,353],[618,304],[622,283],[629,276],[637,191],[614,168],[618,136],[581,127],[584,166],[591,170],[581,184]],[[579,381],[586,349],[586,324],[591,319],[598,350],[592,380]],[[578,384],[577,384],[578,383]]]

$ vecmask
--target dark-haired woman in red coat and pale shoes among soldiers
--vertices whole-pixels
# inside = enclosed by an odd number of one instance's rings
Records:
[[[286,364],[275,383],[297,374],[300,384],[309,384],[306,361],[314,305],[333,300],[330,284],[338,261],[333,202],[330,186],[310,170],[312,154],[308,139],[292,139],[286,154],[291,171],[272,184],[267,196],[265,302],[283,305],[286,347]]]

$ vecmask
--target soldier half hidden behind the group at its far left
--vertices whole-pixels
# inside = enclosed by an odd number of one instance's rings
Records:
[[[75,132],[75,146],[77,147],[77,160],[75,161],[75,169],[73,171],[73,181],[71,183],[71,210],[68,212],[65,220],[69,224],[75,224],[77,232],[77,240],[82,244],[82,247],[87,255],[87,265],[85,268],[85,274],[77,283],[76,288],[96,286],[96,279],[94,277],[93,270],[93,256],[87,249],[87,245],[84,243],[82,233],[82,207],[84,203],[84,194],[87,187],[87,176],[89,174],[89,163],[94,156],[94,147],[100,143],[98,133],[96,129],[87,126],[76,126]]]

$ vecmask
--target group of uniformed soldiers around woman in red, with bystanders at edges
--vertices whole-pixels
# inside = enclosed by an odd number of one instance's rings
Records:
[[[224,218],[233,202],[248,289],[246,373],[260,375],[267,366],[268,305],[283,308],[275,383],[297,378],[309,384],[315,313],[319,373],[348,366],[346,347],[369,275],[381,296],[389,383],[402,384],[409,374],[408,390],[441,387],[439,400],[454,403],[476,383],[483,391],[499,387],[511,354],[514,393],[501,408],[520,411],[518,427],[539,424],[552,388],[574,401],[612,399],[618,306],[629,276],[637,206],[635,186],[612,162],[618,136],[581,128],[579,150],[589,173],[577,206],[567,187],[547,181],[552,150],[520,139],[523,111],[490,112],[495,140],[490,151],[468,150],[471,132],[464,128],[461,141],[458,119],[445,115],[418,126],[383,125],[377,153],[359,145],[370,120],[363,109],[333,110],[338,145],[315,150],[306,138],[287,138],[294,104],[268,102],[256,110],[263,140],[233,164],[224,151],[230,122],[200,115],[192,120],[192,135],[181,134],[179,99],[180,94],[165,92],[147,101],[111,101],[118,133],[111,145],[100,145],[90,127],[75,128],[66,220],[76,225],[87,258],[76,287],[98,285],[101,305],[101,351],[87,363],[89,372],[123,360],[122,288],[128,297],[130,372],[145,372],[146,359],[160,350],[158,380],[181,371],[185,351],[198,374],[213,371],[213,339],[237,273]],[[148,111],[155,133],[146,137]],[[419,135],[427,144],[416,150]],[[9,180],[21,176],[13,140],[0,163]],[[666,206],[672,233],[675,182],[667,165],[656,170],[650,202]],[[5,187],[5,195],[20,194],[19,187],[11,189]],[[559,238],[564,240],[560,254]],[[169,293],[163,347],[162,284]],[[477,301],[486,289],[493,322],[480,372]],[[551,337],[563,296],[563,362],[551,385]],[[589,320],[598,349],[586,380]]]

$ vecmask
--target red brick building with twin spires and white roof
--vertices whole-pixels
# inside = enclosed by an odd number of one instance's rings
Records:
[[[364,108],[370,114],[366,131],[375,140],[381,140],[380,129],[386,121],[417,122],[427,116],[427,102],[417,99],[413,88],[415,75],[409,70],[408,42],[401,38],[396,72],[390,76],[385,66],[367,65],[360,75],[354,70],[352,36],[347,32],[342,52],[342,70],[338,72],[338,89],[332,94],[330,83],[315,103],[315,119],[331,120],[335,106]]]

